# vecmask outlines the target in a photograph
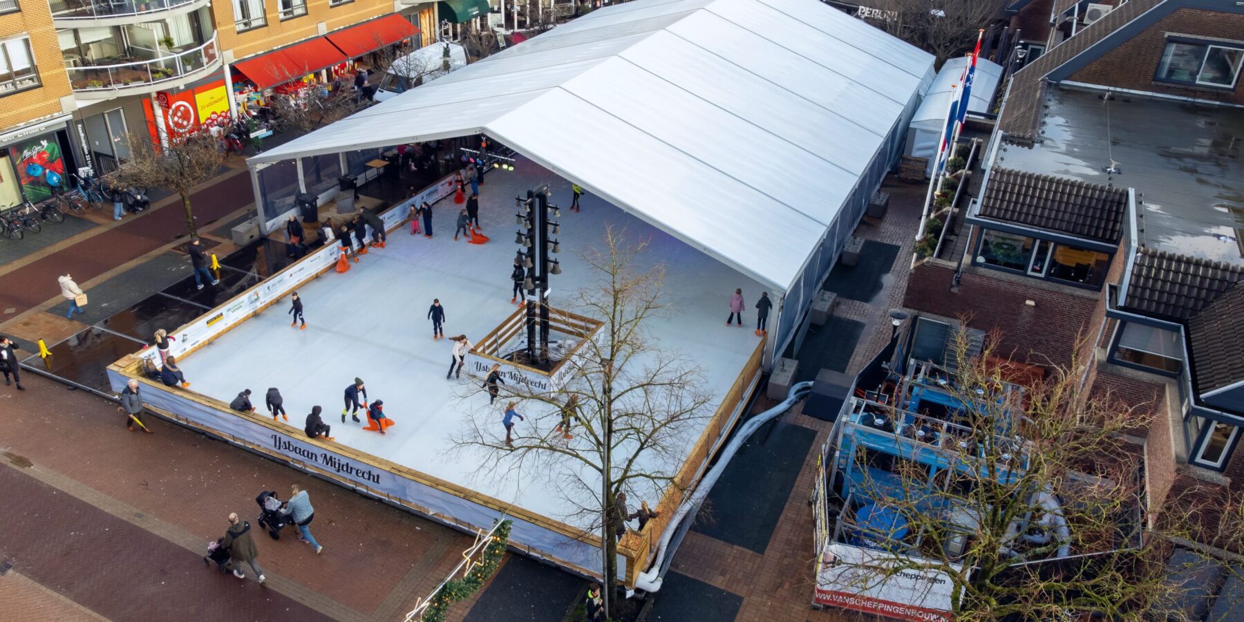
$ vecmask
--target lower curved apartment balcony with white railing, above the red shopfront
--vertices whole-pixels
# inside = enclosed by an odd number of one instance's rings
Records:
[[[70,85],[78,100],[107,100],[121,95],[143,95],[174,88],[220,68],[216,36],[175,53],[142,58],[149,50],[100,58],[90,65],[70,66]]]

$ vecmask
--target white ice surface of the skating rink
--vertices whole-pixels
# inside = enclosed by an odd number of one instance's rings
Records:
[[[363,255],[348,272],[330,270],[300,287],[307,318],[305,331],[290,326],[286,296],[185,358],[182,368],[193,383],[192,389],[229,402],[239,391],[250,388],[253,403],[262,411],[264,393],[277,387],[290,414],[290,434],[302,434],[306,414],[318,404],[340,444],[566,520],[570,505],[557,496],[555,485],[546,484],[542,473],[484,478],[476,475],[481,453],[447,455],[450,435],[463,429],[463,412],[489,408],[488,396],[476,392],[462,397],[470,388],[468,383],[479,386],[466,378],[465,371],[460,381],[445,379],[453,345],[448,340],[433,341],[432,322],[427,318],[432,300],[440,299],[445,307],[445,335],[465,333],[474,343],[514,312],[510,271],[519,229],[514,198],[526,197],[527,189],[546,182],[554,203],[562,208],[557,219],[561,233],[556,236],[561,240],[561,253],[554,255],[561,260],[562,274],[552,277],[552,305],[564,304],[569,292],[595,280],[580,254],[587,246],[600,246],[607,224],[624,226],[632,241],[651,240],[637,267],[658,262],[667,266],[663,291],[671,307],[668,315],[648,322],[652,338],[658,347],[677,351],[699,364],[709,388],[720,399],[760,341],[754,335],[753,305],[763,287],[602,199],[585,194],[582,211],[571,213],[566,209],[570,183],[525,159],[515,163],[514,172],[490,170],[480,187],[480,224],[491,241],[484,245],[454,241],[462,205],[447,198],[433,208],[432,239],[412,236],[406,224],[389,234],[386,249]],[[748,323],[743,328],[725,326],[735,287],[744,294]],[[396,422],[388,434],[363,432],[348,417],[341,423],[342,392],[355,377],[366,383],[368,399],[384,401],[386,414]],[[714,402],[710,408],[717,406]],[[495,411],[496,428],[504,434],[500,399]],[[529,424],[519,422],[515,434],[531,433],[524,429]],[[688,450],[699,433],[697,429],[684,439]],[[657,499],[648,501],[656,505]],[[638,505],[638,500],[633,503]]]

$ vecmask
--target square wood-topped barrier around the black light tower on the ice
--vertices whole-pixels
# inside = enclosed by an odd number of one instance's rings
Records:
[[[469,373],[481,378],[486,377],[488,371],[495,363],[501,366],[501,376],[506,379],[506,382],[521,382],[539,391],[560,391],[561,387],[566,386],[566,381],[570,379],[573,371],[581,368],[581,366],[571,364],[571,362],[582,355],[583,345],[587,343],[588,338],[596,335],[596,331],[598,331],[605,322],[550,306],[550,332],[556,331],[562,335],[575,337],[578,340],[578,343],[576,343],[575,347],[571,348],[570,352],[567,352],[566,356],[552,367],[552,369],[546,372],[544,369],[501,358],[501,348],[506,343],[510,343],[511,340],[518,337],[519,333],[526,328],[526,306],[519,307],[516,311],[510,313],[510,316],[506,317],[500,326],[493,328],[493,331],[485,335],[484,338],[475,342],[471,350],[466,352],[466,366]]]

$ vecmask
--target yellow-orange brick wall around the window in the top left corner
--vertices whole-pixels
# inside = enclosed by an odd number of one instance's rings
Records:
[[[30,36],[30,47],[42,86],[0,97],[0,131],[63,112],[61,97],[71,95],[61,46],[47,2],[21,2],[21,10],[0,15],[0,39]]]

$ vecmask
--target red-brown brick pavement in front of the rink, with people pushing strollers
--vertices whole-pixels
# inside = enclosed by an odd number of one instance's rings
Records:
[[[0,557],[19,557],[15,570],[27,580],[0,577],[0,603],[42,593],[30,611],[76,603],[81,615],[136,620],[127,603],[175,597],[192,608],[162,620],[189,620],[204,617],[193,611],[226,611],[216,602],[228,595],[234,620],[399,620],[473,540],[153,417],[154,434],[127,432],[116,404],[90,393],[34,374],[25,384],[20,393],[0,387],[0,490],[14,499],[10,490],[20,489],[24,499],[0,508]],[[280,541],[256,537],[265,587],[204,567],[203,549],[230,511],[254,525],[255,495],[287,496],[292,483],[311,494],[322,555],[289,527]],[[7,529],[14,524],[20,529]],[[88,546],[51,537],[70,532]],[[97,562],[81,564],[87,555]],[[450,620],[471,605],[458,605]]]

